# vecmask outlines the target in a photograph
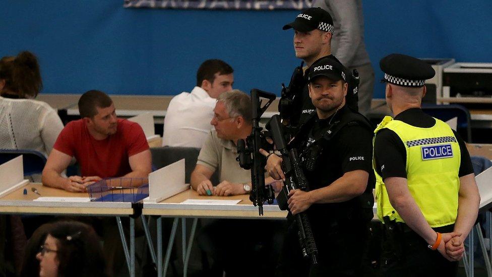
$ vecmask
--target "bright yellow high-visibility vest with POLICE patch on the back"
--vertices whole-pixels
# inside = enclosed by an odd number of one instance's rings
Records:
[[[408,189],[430,227],[454,224],[458,215],[460,146],[451,128],[441,120],[431,128],[419,128],[385,117],[375,134],[383,128],[395,132],[407,153]],[[373,141],[374,144],[374,141]],[[375,168],[373,158],[373,168]],[[393,208],[381,176],[376,174],[378,217],[404,222]]]

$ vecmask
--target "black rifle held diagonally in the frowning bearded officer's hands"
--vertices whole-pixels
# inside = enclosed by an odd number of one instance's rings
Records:
[[[308,191],[309,185],[299,165],[297,150],[295,148],[287,149],[282,130],[284,126],[280,123],[280,117],[274,115],[266,127],[272,135],[277,150],[282,154],[282,170],[285,175],[285,181],[282,191],[277,196],[277,202],[280,209],[285,210],[287,209],[287,195],[289,192],[294,189]],[[302,255],[305,258],[310,258],[313,264],[318,263],[318,249],[307,214],[305,212],[297,213],[294,215],[294,219],[298,229]]]

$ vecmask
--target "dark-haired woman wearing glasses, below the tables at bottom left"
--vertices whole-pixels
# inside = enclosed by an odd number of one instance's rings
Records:
[[[77,221],[54,223],[36,255],[39,276],[107,276],[99,238]]]

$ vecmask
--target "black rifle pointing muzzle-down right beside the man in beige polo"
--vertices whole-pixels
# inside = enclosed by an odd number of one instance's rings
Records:
[[[260,97],[268,99],[265,105],[261,106],[262,100]],[[258,206],[260,215],[263,215],[263,203],[267,201],[273,204],[275,194],[271,186],[265,186],[265,165],[266,158],[260,153],[260,148],[270,149],[265,138],[263,128],[260,127],[260,118],[265,113],[268,106],[275,100],[275,94],[262,91],[259,89],[251,90],[251,103],[253,108],[251,135],[246,140],[240,139],[237,141],[237,152],[239,156],[236,158],[239,161],[241,168],[251,170],[251,193],[250,200],[255,206]]]

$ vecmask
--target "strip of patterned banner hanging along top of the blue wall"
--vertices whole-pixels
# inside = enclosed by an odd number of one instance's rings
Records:
[[[303,10],[311,0],[125,0],[125,8],[200,10]]]

